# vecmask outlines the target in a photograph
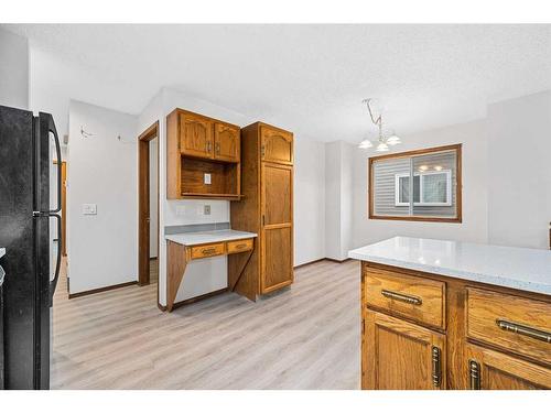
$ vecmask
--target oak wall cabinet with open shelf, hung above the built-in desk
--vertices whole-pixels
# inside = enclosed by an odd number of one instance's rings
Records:
[[[166,117],[166,197],[239,199],[239,127],[173,110]]]

